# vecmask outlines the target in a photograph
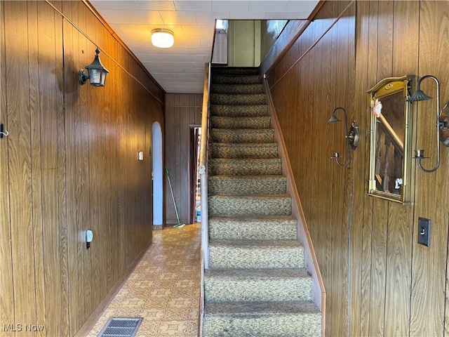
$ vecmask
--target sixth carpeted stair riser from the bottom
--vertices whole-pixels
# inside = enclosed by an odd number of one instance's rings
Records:
[[[279,178],[214,177],[208,179],[209,194],[285,194],[287,180]]]

